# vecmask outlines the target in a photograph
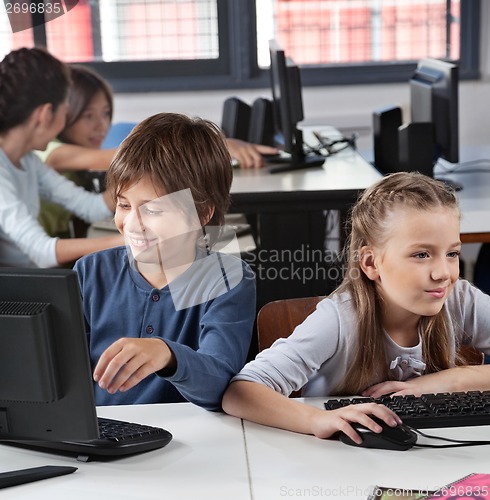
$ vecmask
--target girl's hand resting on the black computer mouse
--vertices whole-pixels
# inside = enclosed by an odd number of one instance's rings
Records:
[[[386,406],[376,403],[362,403],[346,406],[337,410],[315,412],[312,417],[312,433],[319,438],[329,438],[340,431],[350,437],[355,443],[362,442],[361,437],[352,428],[351,424],[357,422],[373,432],[381,432],[382,427],[371,417],[377,417],[386,422],[390,427],[396,427],[402,421]]]

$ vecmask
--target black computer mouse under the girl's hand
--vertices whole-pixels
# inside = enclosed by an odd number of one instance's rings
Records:
[[[417,442],[417,434],[410,427],[404,424],[390,427],[382,420],[376,418],[373,420],[383,428],[380,433],[373,432],[361,424],[353,423],[352,427],[362,437],[362,443],[355,443],[343,432],[340,433],[339,440],[350,446],[398,451],[408,450]]]

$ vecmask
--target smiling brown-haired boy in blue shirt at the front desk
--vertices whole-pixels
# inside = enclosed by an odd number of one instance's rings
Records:
[[[155,115],[119,148],[107,192],[127,248],[75,265],[98,405],[221,408],[255,318],[250,268],[212,251],[232,174],[222,133],[206,120]]]

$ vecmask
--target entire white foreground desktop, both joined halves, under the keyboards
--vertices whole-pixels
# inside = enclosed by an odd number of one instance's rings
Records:
[[[321,406],[323,401],[313,398],[307,403]],[[250,422],[242,426],[237,418],[191,403],[104,407],[99,414],[161,426],[174,439],[160,450],[88,463],[0,446],[0,471],[47,464],[78,467],[68,476],[2,490],[0,498],[366,500],[369,487],[375,484],[433,489],[471,472],[490,473],[488,446],[403,452],[355,448]],[[427,432],[490,440],[490,426]]]

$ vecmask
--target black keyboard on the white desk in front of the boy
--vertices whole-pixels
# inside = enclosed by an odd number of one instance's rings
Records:
[[[160,427],[102,417],[98,418],[98,423],[99,438],[90,441],[15,441],[6,444],[75,454],[77,460],[87,462],[163,448],[172,440],[172,434]]]

